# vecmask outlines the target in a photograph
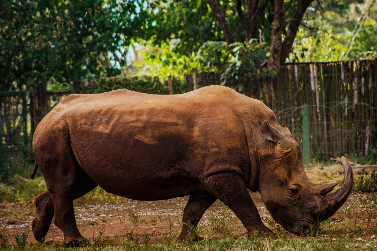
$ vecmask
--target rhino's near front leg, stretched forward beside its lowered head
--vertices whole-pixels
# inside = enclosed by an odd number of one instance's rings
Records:
[[[273,233],[262,222],[258,210],[247,191],[244,181],[236,173],[211,175],[205,182],[208,192],[224,202],[240,219],[248,235]]]

